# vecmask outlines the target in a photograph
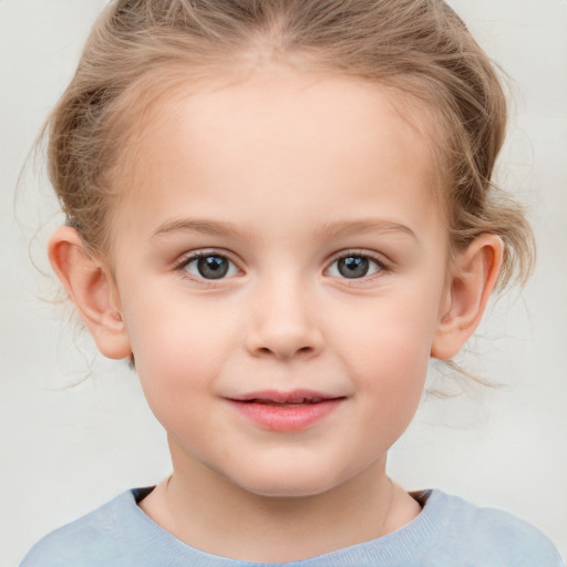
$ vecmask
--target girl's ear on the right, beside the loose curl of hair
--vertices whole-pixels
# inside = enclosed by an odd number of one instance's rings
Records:
[[[497,235],[481,235],[454,259],[431,355],[452,359],[478,327],[504,256]]]

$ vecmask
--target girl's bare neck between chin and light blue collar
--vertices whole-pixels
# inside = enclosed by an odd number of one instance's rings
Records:
[[[340,486],[301,497],[254,494],[174,456],[174,474],[141,507],[197,549],[258,563],[300,560],[374,539],[420,512],[385,475],[385,455]]]

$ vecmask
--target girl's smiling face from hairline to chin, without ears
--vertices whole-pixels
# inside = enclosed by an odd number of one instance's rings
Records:
[[[383,474],[447,261],[432,156],[393,96],[271,68],[152,110],[113,270],[176,468],[272,496]]]

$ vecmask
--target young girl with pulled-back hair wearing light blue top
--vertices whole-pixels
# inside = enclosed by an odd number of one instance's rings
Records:
[[[441,0],[118,0],[49,122],[52,266],[173,474],[22,566],[560,566],[385,473],[430,358],[530,268],[505,102]]]

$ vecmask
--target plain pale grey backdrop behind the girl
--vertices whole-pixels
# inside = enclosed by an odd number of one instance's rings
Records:
[[[41,275],[44,247],[62,219],[41,159],[14,199],[104,3],[0,0],[1,567],[18,565],[47,532],[169,472],[165,434],[135,374],[101,361],[69,311],[49,301],[58,286]],[[493,305],[472,343],[477,353],[465,357],[504,386],[424,400],[390,473],[408,488],[508,509],[567,557],[567,1],[451,3],[512,78],[498,176],[530,206],[538,265],[520,295]]]

